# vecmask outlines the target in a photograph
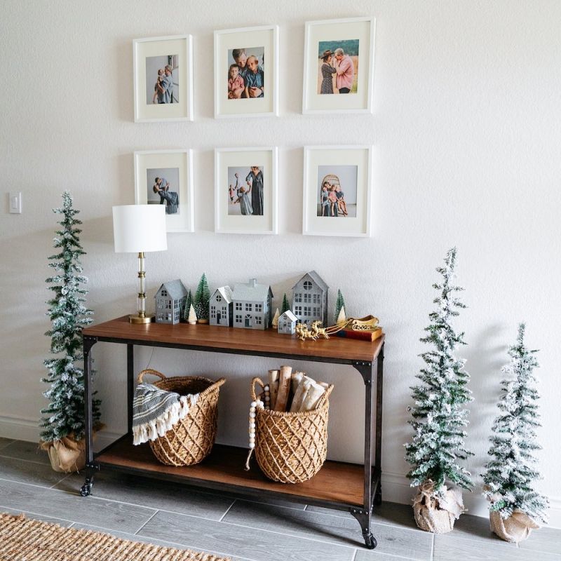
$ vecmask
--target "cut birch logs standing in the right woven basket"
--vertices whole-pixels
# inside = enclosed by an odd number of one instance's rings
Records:
[[[306,372],[292,372],[291,366],[269,370],[269,392],[265,393],[265,409],[291,413],[311,411],[318,405],[328,385],[311,379],[306,376]]]

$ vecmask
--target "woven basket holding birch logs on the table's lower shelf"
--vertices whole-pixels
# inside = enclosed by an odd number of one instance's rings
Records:
[[[263,381],[252,379],[264,391]],[[327,417],[332,384],[321,396],[316,409],[299,413],[255,411],[255,457],[262,472],[273,481],[302,483],[320,471],[327,457]]]

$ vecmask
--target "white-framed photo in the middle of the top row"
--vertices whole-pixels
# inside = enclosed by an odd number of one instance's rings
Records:
[[[215,118],[278,116],[278,26],[215,31]]]

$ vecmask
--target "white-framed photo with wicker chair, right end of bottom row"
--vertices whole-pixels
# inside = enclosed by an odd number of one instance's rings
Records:
[[[302,234],[370,236],[372,147],[304,148]]]

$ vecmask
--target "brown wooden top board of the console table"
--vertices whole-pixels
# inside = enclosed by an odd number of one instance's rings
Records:
[[[84,337],[100,341],[184,349],[252,354],[255,356],[297,357],[302,360],[346,363],[373,362],[384,344],[383,335],[374,342],[333,335],[330,339],[300,341],[296,335],[276,330],[250,330],[197,323],[129,323],[128,316],[85,327]]]

